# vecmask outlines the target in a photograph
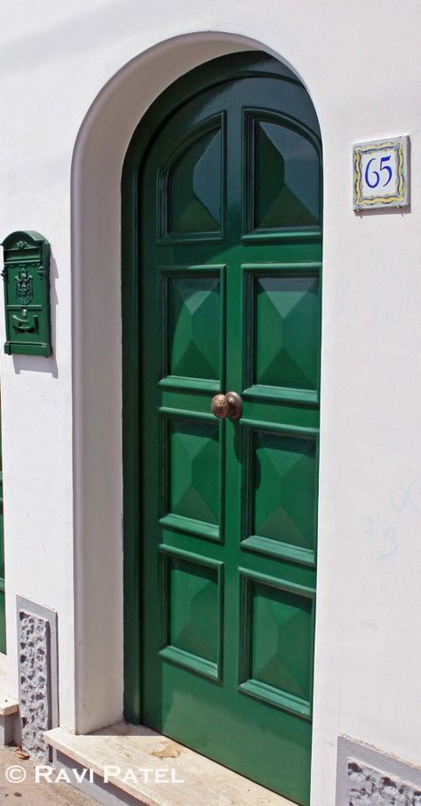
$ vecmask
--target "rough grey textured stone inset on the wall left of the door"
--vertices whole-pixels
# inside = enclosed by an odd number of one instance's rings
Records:
[[[48,763],[44,731],[51,727],[50,625],[25,610],[19,612],[20,718],[22,746]]]

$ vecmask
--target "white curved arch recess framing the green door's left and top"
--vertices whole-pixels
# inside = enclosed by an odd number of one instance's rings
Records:
[[[281,59],[265,43],[227,33],[188,34],[156,44],[99,92],[75,143],[72,343],[78,733],[111,724],[123,713],[123,160],[139,120],[168,85],[207,60],[248,49]]]

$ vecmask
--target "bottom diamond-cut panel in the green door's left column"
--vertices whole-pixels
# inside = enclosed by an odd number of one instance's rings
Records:
[[[160,562],[160,655],[195,672],[218,678],[221,564],[170,549],[162,549]]]

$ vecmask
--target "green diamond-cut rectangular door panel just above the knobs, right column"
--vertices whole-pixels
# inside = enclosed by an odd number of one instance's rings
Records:
[[[246,270],[246,386],[266,396],[318,398],[320,281],[317,273]]]

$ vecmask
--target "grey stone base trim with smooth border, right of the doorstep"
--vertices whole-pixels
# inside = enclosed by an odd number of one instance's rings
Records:
[[[339,737],[336,806],[378,804],[421,806],[421,769]]]

